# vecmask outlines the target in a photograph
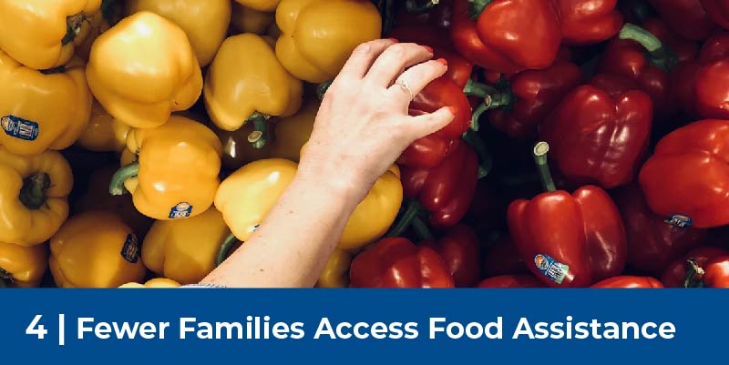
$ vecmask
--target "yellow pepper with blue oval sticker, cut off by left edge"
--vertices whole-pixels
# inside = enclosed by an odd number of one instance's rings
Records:
[[[92,97],[80,59],[41,72],[0,51],[0,83],[0,145],[10,151],[61,150],[86,128]]]

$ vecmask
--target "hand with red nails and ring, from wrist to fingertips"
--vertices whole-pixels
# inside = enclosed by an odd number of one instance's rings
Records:
[[[416,139],[447,126],[452,108],[408,115],[413,98],[447,71],[413,43],[379,39],[354,49],[325,96],[299,171],[362,200]]]

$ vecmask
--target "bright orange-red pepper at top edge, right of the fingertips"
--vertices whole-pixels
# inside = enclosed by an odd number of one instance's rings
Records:
[[[477,1],[479,9],[487,4]],[[545,68],[561,43],[558,9],[550,0],[495,0],[477,20],[471,3],[454,0],[450,35],[458,52],[478,66],[498,73]]]

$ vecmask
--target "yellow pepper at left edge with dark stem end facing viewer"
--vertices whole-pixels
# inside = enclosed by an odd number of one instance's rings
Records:
[[[35,246],[68,218],[73,175],[56,151],[23,157],[0,146],[0,242]]]

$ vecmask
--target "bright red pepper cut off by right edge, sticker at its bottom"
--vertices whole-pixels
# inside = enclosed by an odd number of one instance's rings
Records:
[[[684,225],[729,224],[729,120],[705,119],[663,137],[641,169],[648,206]]]

